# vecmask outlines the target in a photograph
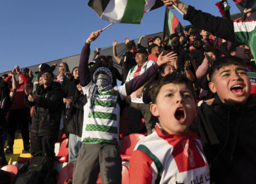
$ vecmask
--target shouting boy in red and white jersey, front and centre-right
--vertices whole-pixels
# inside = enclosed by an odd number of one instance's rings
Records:
[[[169,74],[153,86],[156,131],[140,140],[129,164],[130,183],[210,183],[201,142],[188,128],[196,117],[193,84]]]

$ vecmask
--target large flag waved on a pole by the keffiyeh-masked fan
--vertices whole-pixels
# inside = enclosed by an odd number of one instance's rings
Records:
[[[144,12],[164,6],[161,0],[89,0],[100,18],[111,23],[140,24]]]

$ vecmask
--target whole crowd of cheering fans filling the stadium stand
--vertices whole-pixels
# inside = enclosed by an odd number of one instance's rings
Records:
[[[143,132],[144,118],[147,135],[130,159],[130,183],[255,183],[256,91],[247,74],[256,72],[255,21],[217,18],[178,0],[163,2],[175,5],[198,29],[150,38],[148,47],[140,44],[145,36],[137,45],[126,37],[121,57],[113,40],[113,57],[97,49],[89,62],[98,30],[71,72],[60,63],[58,76],[56,64],[41,64],[35,76],[18,66],[2,75],[0,166],[7,164],[5,154],[13,154],[18,126],[22,153],[44,151],[53,167],[62,120],[73,183],[95,183],[99,172],[102,183],[121,183],[119,121],[127,108],[128,134]]]

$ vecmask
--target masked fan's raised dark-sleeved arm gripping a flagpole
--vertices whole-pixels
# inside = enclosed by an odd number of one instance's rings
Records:
[[[84,45],[84,47],[82,47],[82,52],[81,52],[80,61],[79,61],[79,76],[80,76],[80,82],[82,86],[86,86],[87,84],[89,84],[91,80],[89,66],[88,66],[88,61],[90,56],[90,42],[97,39],[101,31],[102,30],[92,32],[90,36],[87,38],[86,44]]]

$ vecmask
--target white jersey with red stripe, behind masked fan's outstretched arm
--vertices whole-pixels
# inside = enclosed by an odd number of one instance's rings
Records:
[[[146,61],[142,66],[133,66],[130,68],[130,71],[127,75],[126,82],[129,82],[130,80],[138,77],[139,75],[142,75],[150,66],[152,66],[155,62],[153,60]],[[132,102],[135,103],[143,103],[143,98],[137,98],[136,97],[136,91],[130,95],[130,98]]]

